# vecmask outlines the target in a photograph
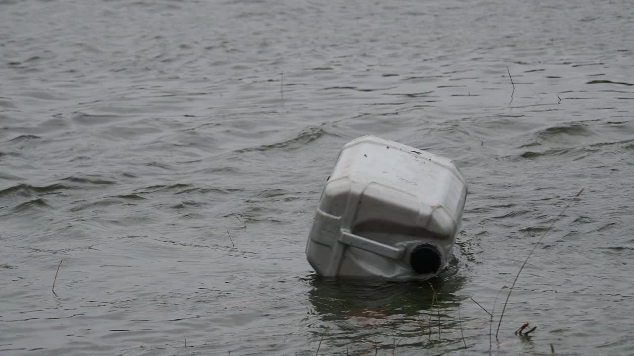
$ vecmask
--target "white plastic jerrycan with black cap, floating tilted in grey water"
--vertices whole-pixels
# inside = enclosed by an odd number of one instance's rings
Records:
[[[448,158],[359,137],[323,188],[306,258],[321,276],[429,279],[451,257],[466,198]]]

